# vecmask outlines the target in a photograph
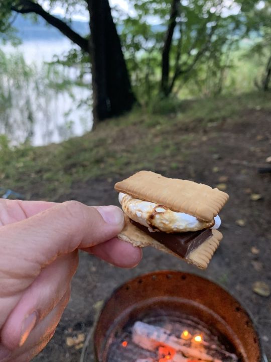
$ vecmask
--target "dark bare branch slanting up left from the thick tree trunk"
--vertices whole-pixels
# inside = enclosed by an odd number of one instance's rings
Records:
[[[63,20],[60,20],[53,15],[47,13],[39,4],[31,0],[20,0],[16,6],[12,6],[12,11],[20,14],[35,13],[41,16],[47,23],[57,28],[63,35],[77,44],[83,51],[90,53],[88,40],[81,37],[73,31]]]

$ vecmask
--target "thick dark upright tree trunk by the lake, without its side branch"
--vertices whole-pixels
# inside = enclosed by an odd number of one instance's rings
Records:
[[[135,103],[108,0],[88,0],[94,123],[129,111]]]

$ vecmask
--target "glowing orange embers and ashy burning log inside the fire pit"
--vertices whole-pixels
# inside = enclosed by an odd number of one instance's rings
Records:
[[[172,326],[167,326],[172,329]],[[225,350],[224,346],[214,341],[205,341],[203,333],[184,329],[178,336],[169,329],[143,322],[135,322],[131,330],[131,341],[141,347],[139,358],[135,362],[236,362],[237,356]],[[176,330],[175,330],[176,331]],[[191,332],[191,333],[190,333]],[[127,347],[128,342],[122,341]],[[143,350],[146,350],[144,358]],[[150,357],[147,351],[154,352]]]

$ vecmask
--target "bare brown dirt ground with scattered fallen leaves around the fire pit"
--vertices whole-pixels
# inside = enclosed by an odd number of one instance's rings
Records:
[[[87,335],[91,331],[102,301],[110,296],[114,288],[130,278],[161,269],[198,274],[230,291],[252,314],[266,355],[271,360],[271,297],[252,291],[253,283],[257,281],[271,287],[271,174],[258,172],[258,168],[268,166],[265,159],[271,156],[271,112],[247,111],[240,115],[238,122],[225,119],[200,131],[184,130],[180,126],[179,132],[193,136],[191,149],[189,152],[186,149],[185,161],[168,171],[161,160],[154,165],[154,170],[213,187],[224,184],[220,188],[226,188],[230,195],[220,214],[220,230],[224,238],[208,269],[201,271],[155,249],[144,250],[140,265],[131,270],[113,267],[81,253],[70,303],[55,336],[34,359],[35,362],[79,362],[82,348],[67,346],[66,338],[79,333]],[[170,137],[170,134],[165,134],[165,137]],[[117,195],[113,191],[116,180],[117,177],[112,175],[106,180],[95,179],[73,185],[73,191],[63,195],[59,201],[75,199],[88,205],[117,205]],[[91,350],[89,348],[87,357],[82,359],[84,362],[93,360]]]

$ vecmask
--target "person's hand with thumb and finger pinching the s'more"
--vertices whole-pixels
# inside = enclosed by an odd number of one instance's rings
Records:
[[[122,227],[114,206],[0,200],[1,362],[27,362],[52,338],[78,249],[121,267],[138,264],[141,250],[115,237]]]

